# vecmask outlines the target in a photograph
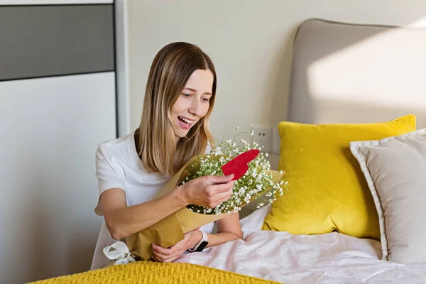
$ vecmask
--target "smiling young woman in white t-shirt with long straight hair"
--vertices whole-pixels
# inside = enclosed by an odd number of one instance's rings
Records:
[[[231,197],[232,176],[206,176],[153,200],[194,155],[214,145],[209,116],[216,96],[212,60],[195,45],[170,43],[153,60],[141,124],[132,133],[101,143],[96,153],[99,202],[104,216],[92,269],[107,266],[104,247],[146,229],[188,204],[215,207]],[[185,234],[170,248],[153,244],[155,261],[172,262],[185,251],[242,238],[239,213]],[[200,246],[200,244],[202,244]],[[200,251],[200,249],[198,249]]]

